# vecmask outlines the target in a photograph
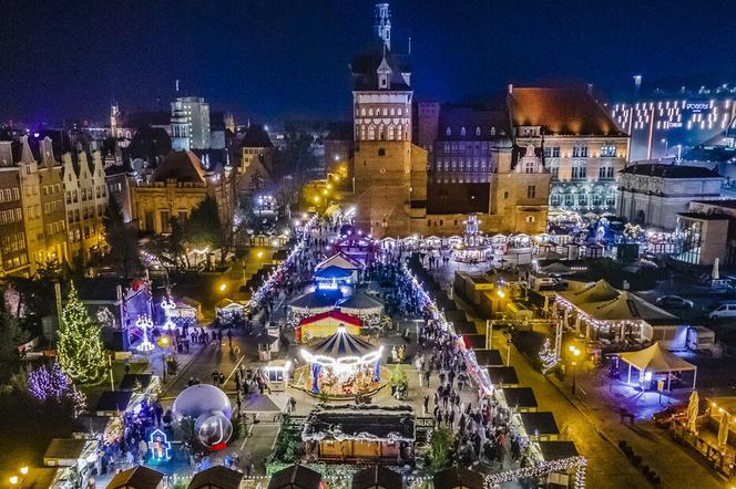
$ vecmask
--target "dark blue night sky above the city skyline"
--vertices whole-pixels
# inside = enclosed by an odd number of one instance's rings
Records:
[[[1,4],[1,121],[101,121],[113,97],[167,110],[176,79],[238,122],[348,118],[347,64],[372,39],[368,0]],[[736,83],[733,1],[396,0],[391,11],[395,51],[412,38],[419,98],[552,80],[614,95],[636,73],[645,87]]]

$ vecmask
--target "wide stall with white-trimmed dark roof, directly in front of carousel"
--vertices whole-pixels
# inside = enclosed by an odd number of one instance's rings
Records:
[[[307,418],[301,440],[308,456],[319,461],[410,460],[415,444],[415,414],[410,406],[326,405]]]

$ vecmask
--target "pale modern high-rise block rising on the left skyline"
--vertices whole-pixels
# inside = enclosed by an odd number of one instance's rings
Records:
[[[209,149],[209,104],[201,97],[178,97],[171,103],[174,150]]]

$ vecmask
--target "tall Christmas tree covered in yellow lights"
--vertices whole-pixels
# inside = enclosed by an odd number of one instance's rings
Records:
[[[102,381],[105,352],[100,337],[100,326],[90,318],[71,284],[67,305],[61,313],[57,355],[61,370],[80,384]]]

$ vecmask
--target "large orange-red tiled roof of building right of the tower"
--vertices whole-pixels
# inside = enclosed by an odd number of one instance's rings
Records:
[[[517,89],[509,95],[514,126],[543,126],[545,134],[625,136],[603,107],[579,89]]]

